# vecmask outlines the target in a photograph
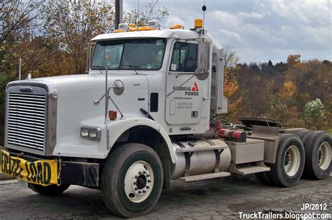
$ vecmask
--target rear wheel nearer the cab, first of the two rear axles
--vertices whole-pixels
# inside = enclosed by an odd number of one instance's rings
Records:
[[[295,185],[302,173],[305,163],[303,144],[296,135],[280,135],[276,163],[272,165],[268,177],[276,186]]]

